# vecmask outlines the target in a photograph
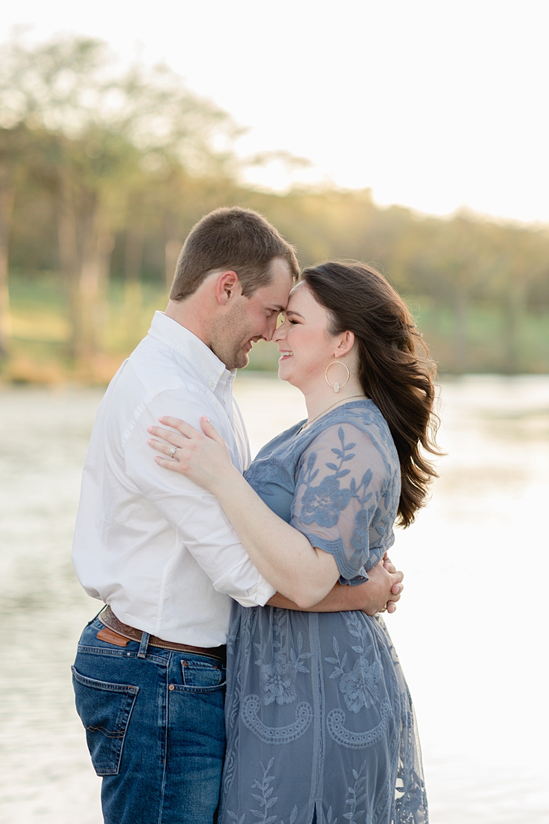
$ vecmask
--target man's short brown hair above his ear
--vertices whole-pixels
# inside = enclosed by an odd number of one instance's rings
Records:
[[[216,269],[231,269],[239,276],[246,297],[271,282],[271,262],[286,260],[292,277],[300,269],[293,246],[258,212],[232,206],[216,208],[191,229],[179,254],[170,300],[182,301],[196,292]]]

